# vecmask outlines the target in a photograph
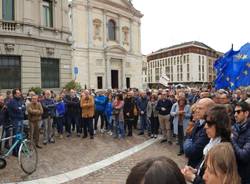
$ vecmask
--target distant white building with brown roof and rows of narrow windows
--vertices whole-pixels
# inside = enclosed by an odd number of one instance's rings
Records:
[[[169,84],[202,85],[215,79],[214,61],[221,55],[204,43],[192,41],[160,49],[147,56],[147,83],[166,75]]]

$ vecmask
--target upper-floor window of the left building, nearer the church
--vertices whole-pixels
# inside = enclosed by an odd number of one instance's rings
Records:
[[[43,25],[53,27],[53,3],[51,0],[43,0]]]

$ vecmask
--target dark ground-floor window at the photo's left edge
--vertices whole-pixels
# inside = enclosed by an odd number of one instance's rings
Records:
[[[21,59],[0,56],[0,89],[21,88]]]

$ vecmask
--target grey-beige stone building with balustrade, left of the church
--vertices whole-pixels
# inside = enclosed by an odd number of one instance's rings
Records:
[[[0,0],[0,12],[0,89],[71,80],[67,0]]]

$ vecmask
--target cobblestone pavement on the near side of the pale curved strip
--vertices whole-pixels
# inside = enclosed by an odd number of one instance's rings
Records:
[[[149,146],[148,148],[135,153],[134,155],[118,161],[109,167],[91,173],[85,177],[75,179],[65,184],[124,184],[130,172],[130,169],[137,162],[152,156],[167,156],[172,158],[180,168],[182,168],[186,159],[183,156],[177,156],[178,147],[176,145],[161,144],[159,142]]]

